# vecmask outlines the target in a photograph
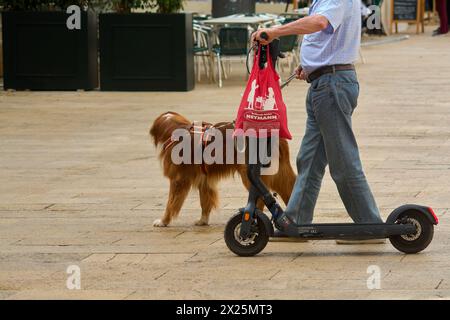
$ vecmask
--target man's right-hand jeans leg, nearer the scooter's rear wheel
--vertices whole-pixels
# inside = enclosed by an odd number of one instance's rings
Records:
[[[356,223],[382,222],[364,175],[351,116],[356,108],[359,84],[356,73],[329,76],[326,93],[312,93],[317,124],[322,133],[331,176],[347,212]],[[323,91],[323,90],[322,90]]]

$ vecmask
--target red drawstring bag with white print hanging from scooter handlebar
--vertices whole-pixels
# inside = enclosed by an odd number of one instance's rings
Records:
[[[287,126],[286,105],[281,95],[280,77],[272,65],[269,51],[267,50],[267,63],[263,69],[259,68],[258,63],[261,46],[255,54],[252,72],[238,110],[235,134],[242,134],[244,130],[245,135],[254,136],[255,133],[258,137],[279,135],[280,138],[291,139]],[[247,131],[249,129],[254,129],[254,132]],[[266,129],[267,134],[261,129]]]

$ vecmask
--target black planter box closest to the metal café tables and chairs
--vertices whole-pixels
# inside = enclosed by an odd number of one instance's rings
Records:
[[[101,14],[101,90],[192,90],[193,42],[192,14]]]

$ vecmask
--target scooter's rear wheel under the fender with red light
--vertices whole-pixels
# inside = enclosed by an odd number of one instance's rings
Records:
[[[404,253],[418,253],[424,250],[433,240],[434,226],[428,218],[418,210],[408,210],[400,214],[395,223],[411,223],[416,227],[416,233],[392,236],[391,244]]]

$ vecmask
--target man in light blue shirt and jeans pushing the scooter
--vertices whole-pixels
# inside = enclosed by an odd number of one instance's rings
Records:
[[[306,35],[297,78],[311,84],[306,99],[308,118],[297,156],[299,175],[286,211],[275,223],[281,231],[312,223],[327,164],[353,221],[382,222],[351,123],[359,95],[353,63],[360,47],[360,6],[360,0],[314,0],[308,17],[253,35],[262,44],[281,36]],[[262,32],[267,33],[267,41],[261,38]]]

